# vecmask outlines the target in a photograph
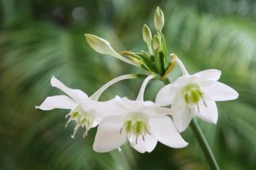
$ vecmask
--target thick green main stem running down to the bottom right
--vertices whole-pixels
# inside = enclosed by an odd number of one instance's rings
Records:
[[[165,85],[168,85],[169,83],[171,83],[170,78],[167,77],[167,79],[164,80],[164,83]],[[200,127],[198,126],[194,118],[190,122],[190,127],[194,133],[194,136],[197,139],[197,142],[199,143],[203,151],[203,154],[205,155],[205,159],[208,162],[210,168],[213,170],[219,170],[220,168],[218,163],[216,162],[213,152],[211,151],[211,148],[209,147],[209,144],[206,141],[205,136],[203,136],[202,130],[200,129]]]

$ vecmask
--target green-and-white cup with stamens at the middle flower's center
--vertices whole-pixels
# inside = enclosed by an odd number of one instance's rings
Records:
[[[142,136],[143,141],[145,141],[144,136],[149,133],[149,129],[149,115],[141,112],[132,112],[127,114],[123,127],[120,129],[120,134],[122,131],[125,131],[127,141],[130,137],[134,136],[135,138],[133,139],[135,141],[131,145],[135,145],[139,136]]]

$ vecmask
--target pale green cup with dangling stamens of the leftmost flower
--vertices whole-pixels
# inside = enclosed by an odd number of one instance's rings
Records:
[[[91,129],[92,125],[94,124],[95,115],[89,114],[88,112],[83,110],[80,105],[78,105],[77,108],[75,108],[66,115],[66,118],[68,118],[68,116],[70,117],[65,127],[67,127],[69,122],[71,122],[72,120],[77,123],[74,128],[74,134],[71,137],[74,138],[74,135],[77,132],[78,128],[82,126],[86,128],[85,133],[83,133],[83,138],[85,138],[89,129]]]

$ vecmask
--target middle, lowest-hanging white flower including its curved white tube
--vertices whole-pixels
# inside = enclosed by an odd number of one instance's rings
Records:
[[[155,75],[150,75],[144,80],[136,101],[117,96],[98,103],[98,108],[107,115],[98,126],[93,145],[95,151],[111,151],[127,141],[140,153],[151,152],[158,141],[173,148],[187,146],[187,142],[167,116],[178,116],[180,111],[161,108],[150,101],[143,102],[146,83],[153,77]]]

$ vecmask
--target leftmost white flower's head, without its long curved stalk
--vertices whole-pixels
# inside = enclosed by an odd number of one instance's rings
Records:
[[[95,101],[89,99],[89,97],[81,90],[73,90],[66,87],[54,76],[51,78],[51,85],[59,88],[68,94],[69,97],[65,95],[47,97],[45,101],[40,106],[36,106],[36,108],[42,109],[43,111],[51,109],[71,109],[71,112],[66,115],[66,118],[70,116],[66,126],[68,126],[69,122],[72,120],[77,123],[74,128],[74,134],[71,137],[74,138],[74,135],[80,126],[86,127],[83,135],[85,137],[88,130],[97,126],[97,121],[100,121],[100,118],[96,115],[95,108],[91,107],[91,103],[94,103]],[[81,107],[82,100],[85,107],[84,109]]]

